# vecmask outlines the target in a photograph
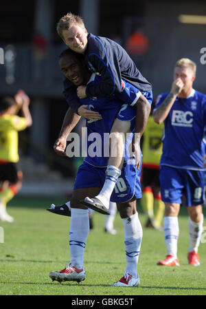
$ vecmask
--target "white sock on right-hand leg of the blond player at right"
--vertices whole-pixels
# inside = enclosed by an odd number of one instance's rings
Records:
[[[202,217],[201,222],[194,222],[189,217],[189,233],[190,233],[190,246],[189,252],[195,251],[198,252],[198,246],[201,242],[201,235],[203,233],[203,220],[204,216]]]

